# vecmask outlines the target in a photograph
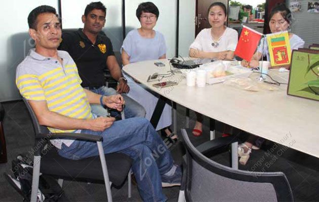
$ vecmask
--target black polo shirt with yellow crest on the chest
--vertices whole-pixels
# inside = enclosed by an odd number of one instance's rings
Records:
[[[99,33],[95,44],[83,33],[82,29],[64,32],[59,46],[67,51],[74,60],[83,87],[98,87],[105,85],[104,69],[108,56],[114,56],[110,39]]]

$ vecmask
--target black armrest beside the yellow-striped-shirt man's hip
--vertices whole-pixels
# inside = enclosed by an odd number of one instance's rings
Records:
[[[38,134],[35,138],[47,138],[47,139],[56,139],[56,138],[70,138],[77,140],[86,140],[86,141],[103,141],[102,136],[90,135],[84,133],[49,133],[49,134]]]

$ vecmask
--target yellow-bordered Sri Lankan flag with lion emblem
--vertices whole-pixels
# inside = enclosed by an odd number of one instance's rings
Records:
[[[288,31],[267,34],[266,37],[271,66],[289,65],[291,48]]]

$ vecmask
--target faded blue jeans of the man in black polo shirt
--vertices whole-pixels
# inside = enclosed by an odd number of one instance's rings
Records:
[[[89,89],[88,87],[85,87],[86,89]],[[97,94],[101,95],[114,95],[117,94],[116,90],[113,88],[109,88],[106,86],[102,86],[97,89],[90,89],[92,92],[95,92]],[[125,118],[133,118],[133,117],[145,117],[145,109],[143,106],[141,106],[139,103],[137,103],[134,99],[127,96],[126,94],[122,94],[124,100],[125,100],[125,108],[124,108],[124,114]],[[91,105],[91,111],[93,114],[96,114],[98,116],[106,117],[108,115],[107,110],[105,110],[101,105]]]

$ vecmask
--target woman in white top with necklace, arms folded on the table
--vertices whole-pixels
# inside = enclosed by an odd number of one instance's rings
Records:
[[[227,21],[226,6],[213,3],[208,9],[208,22],[211,28],[203,29],[189,46],[189,56],[193,58],[211,58],[232,60],[238,41],[236,30],[225,26]],[[196,113],[197,121],[193,135],[200,136],[203,130],[203,115]]]

